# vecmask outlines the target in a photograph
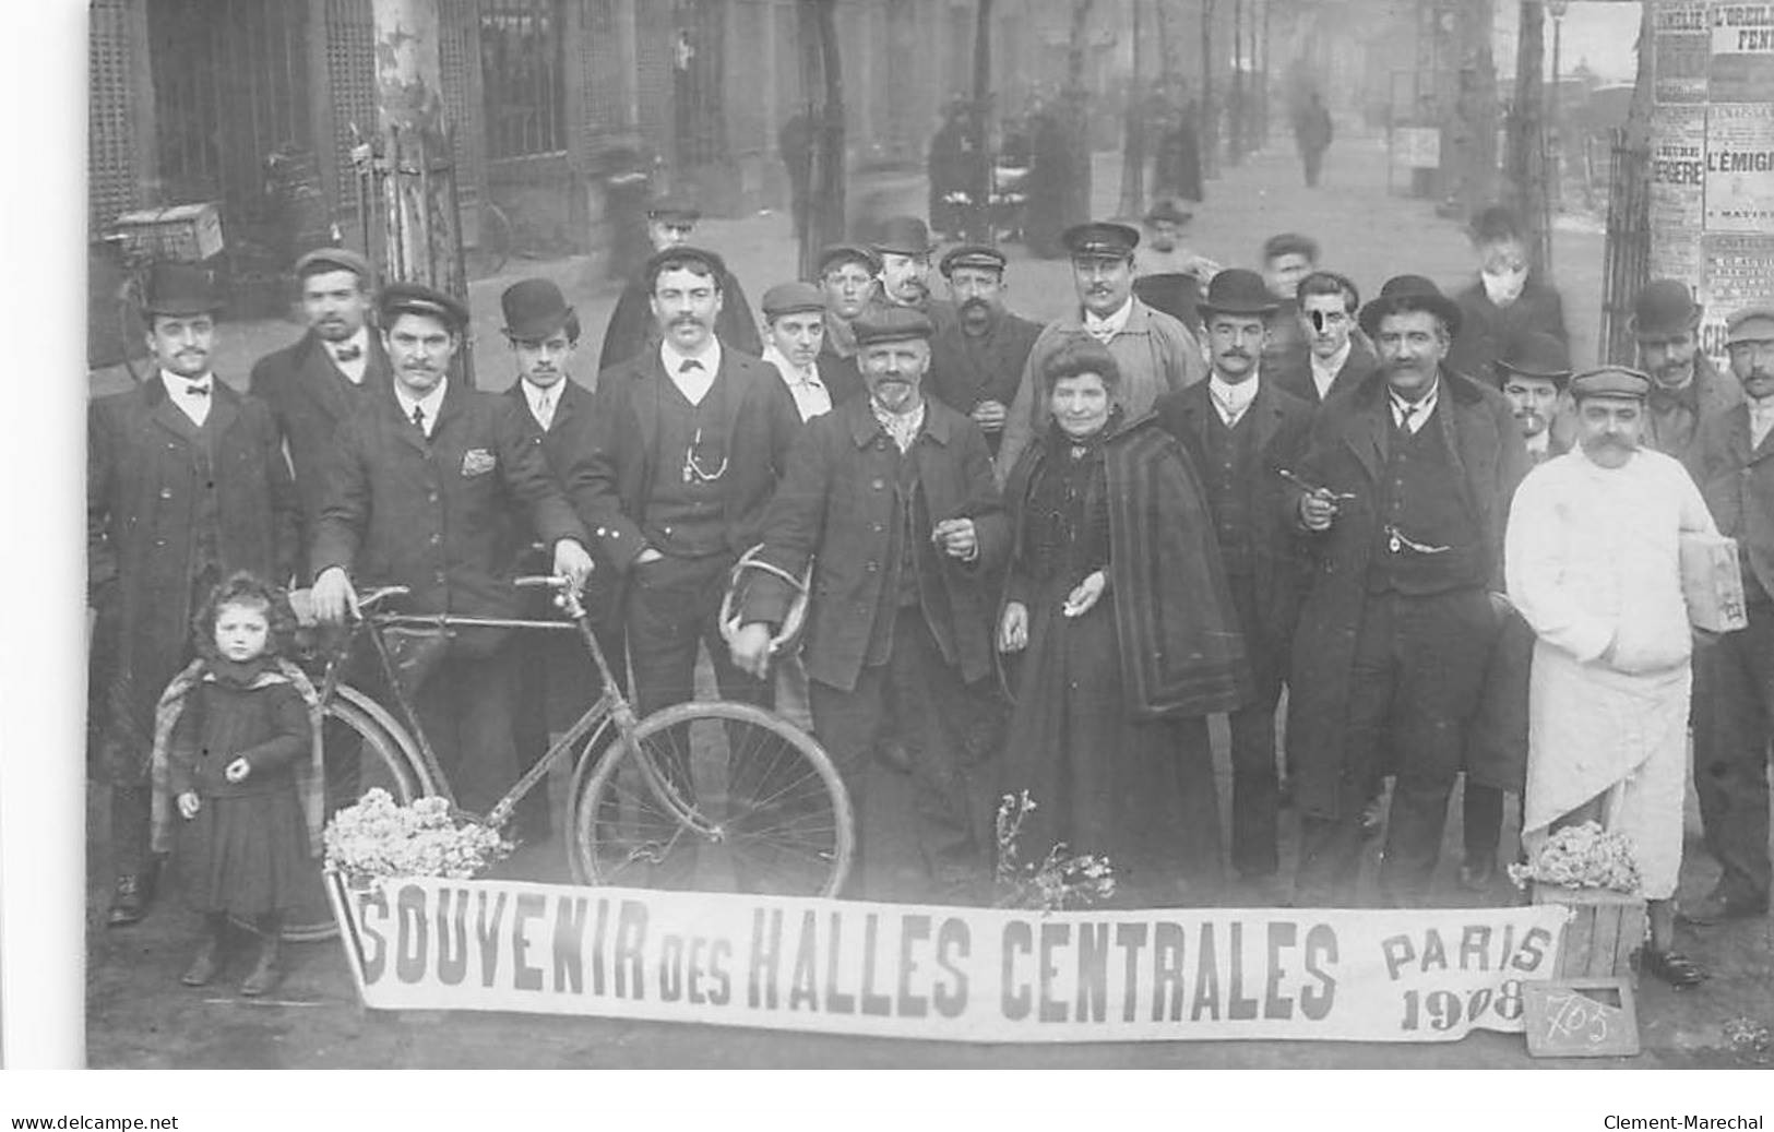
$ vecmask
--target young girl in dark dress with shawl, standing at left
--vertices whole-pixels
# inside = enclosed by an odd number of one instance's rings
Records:
[[[247,573],[231,577],[197,614],[199,660],[161,696],[154,841],[172,848],[186,901],[208,919],[186,987],[220,971],[232,916],[254,923],[261,940],[241,994],[273,990],[279,930],[314,868],[316,701],[302,671],[279,656],[291,623],[280,591]]]

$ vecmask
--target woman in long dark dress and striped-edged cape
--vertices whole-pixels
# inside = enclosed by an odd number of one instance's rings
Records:
[[[1054,422],[1011,470],[999,649],[1017,708],[1002,790],[1027,790],[1025,861],[1103,853],[1126,907],[1208,903],[1221,882],[1206,717],[1251,692],[1212,518],[1183,449],[1111,408],[1096,342],[1041,374]],[[1080,412],[1079,405],[1095,406]]]

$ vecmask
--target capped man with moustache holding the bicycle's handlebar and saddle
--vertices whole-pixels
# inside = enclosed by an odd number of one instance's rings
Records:
[[[584,586],[585,529],[548,474],[523,406],[451,374],[467,307],[410,282],[383,287],[378,305],[392,392],[339,426],[309,554],[316,616],[342,623],[365,584],[406,586],[403,612],[514,617],[511,580],[532,541],[550,546],[550,573]],[[461,630],[413,692],[456,802],[472,813],[486,813],[516,779],[514,672],[509,630]]]

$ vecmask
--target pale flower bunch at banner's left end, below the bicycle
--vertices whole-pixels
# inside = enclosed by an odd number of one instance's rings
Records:
[[[323,836],[326,868],[351,887],[389,877],[470,880],[511,853],[498,830],[458,821],[440,797],[399,806],[387,790],[371,790],[332,816]]]

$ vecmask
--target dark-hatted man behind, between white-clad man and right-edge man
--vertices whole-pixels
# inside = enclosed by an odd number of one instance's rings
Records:
[[[1699,316],[1687,284],[1653,279],[1639,291],[1627,323],[1639,342],[1639,366],[1652,376],[1644,447],[1675,456],[1696,479],[1699,426],[1744,401],[1742,385],[1701,353]]]

